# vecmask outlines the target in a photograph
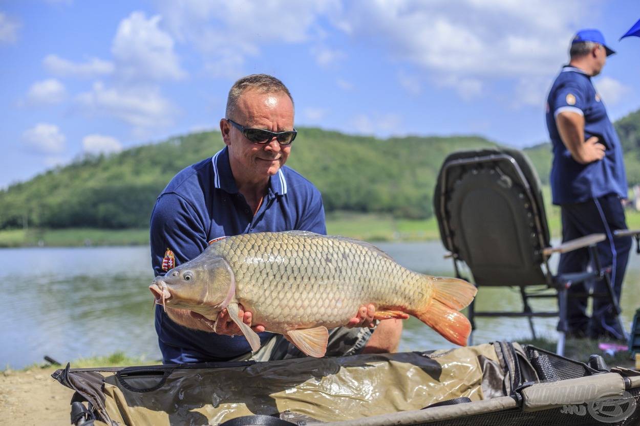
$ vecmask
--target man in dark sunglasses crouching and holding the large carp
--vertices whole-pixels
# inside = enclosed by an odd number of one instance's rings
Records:
[[[326,233],[319,191],[284,166],[291,143],[294,106],[289,90],[275,77],[249,75],[228,93],[220,120],[227,145],[218,154],[180,171],[158,196],[152,212],[150,242],[156,276],[202,253],[212,241],[251,232],[306,230]],[[402,323],[385,320],[374,327],[373,305],[354,312],[348,327],[330,332],[327,356],[397,350]],[[282,335],[252,324],[259,351],[252,353],[242,333],[223,310],[216,321],[185,310],[156,308],[156,332],[164,363],[196,363],[303,356]]]

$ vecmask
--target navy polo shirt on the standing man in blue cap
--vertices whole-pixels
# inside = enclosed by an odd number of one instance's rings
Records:
[[[606,147],[602,160],[580,164],[573,159],[556,127],[556,116],[562,111],[584,116],[584,139],[598,136]],[[549,91],[546,117],[554,153],[550,176],[553,203],[580,203],[609,194],[627,198],[620,139],[591,77],[579,68],[565,66]]]

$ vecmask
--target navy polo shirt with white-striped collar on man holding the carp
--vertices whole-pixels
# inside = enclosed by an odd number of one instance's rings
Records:
[[[251,232],[306,230],[326,234],[320,192],[283,166],[269,180],[257,214],[240,194],[227,148],[180,171],[158,196],[150,242],[156,276],[200,255],[212,240]],[[164,265],[164,269],[163,269]],[[182,327],[156,307],[156,332],[164,363],[226,361],[251,350],[245,338]],[[259,333],[264,344],[272,333]]]

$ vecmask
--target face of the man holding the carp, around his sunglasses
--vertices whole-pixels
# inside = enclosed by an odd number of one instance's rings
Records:
[[[244,127],[284,132],[293,130],[294,108],[286,93],[244,92],[230,120]],[[276,139],[260,145],[244,137],[244,134],[227,120],[220,121],[225,144],[229,147],[231,170],[239,184],[264,182],[275,175],[287,161],[291,145],[280,145]]]

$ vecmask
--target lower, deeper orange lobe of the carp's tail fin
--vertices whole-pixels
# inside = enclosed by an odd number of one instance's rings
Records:
[[[428,308],[417,313],[416,317],[437,331],[442,337],[456,345],[467,346],[471,334],[471,323],[460,312],[433,300]]]

